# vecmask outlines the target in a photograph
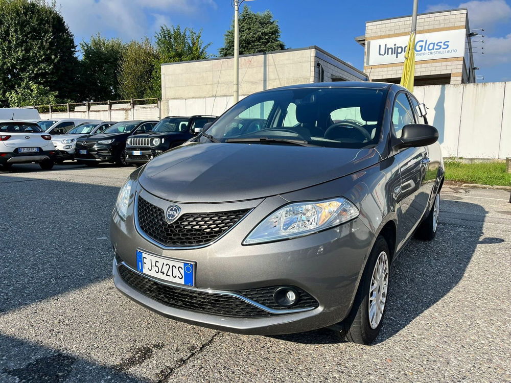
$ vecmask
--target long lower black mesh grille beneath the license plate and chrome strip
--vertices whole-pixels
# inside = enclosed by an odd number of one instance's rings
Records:
[[[236,297],[180,289],[155,282],[124,265],[119,266],[119,274],[133,289],[170,307],[225,317],[257,318],[272,315]]]

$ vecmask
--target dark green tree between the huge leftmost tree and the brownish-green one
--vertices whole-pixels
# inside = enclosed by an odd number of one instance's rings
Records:
[[[120,62],[125,45],[118,38],[107,40],[99,33],[80,43],[80,100],[118,100]]]

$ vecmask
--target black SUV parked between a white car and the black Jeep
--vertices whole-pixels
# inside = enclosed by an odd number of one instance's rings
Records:
[[[83,136],[76,140],[75,159],[94,165],[98,162],[114,162],[126,165],[124,148],[128,137],[150,132],[157,121],[124,121],[113,124],[102,133]]]

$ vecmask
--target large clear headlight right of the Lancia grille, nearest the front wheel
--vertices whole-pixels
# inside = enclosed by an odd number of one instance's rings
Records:
[[[243,241],[244,245],[287,240],[337,226],[358,217],[344,198],[292,203],[270,214]]]

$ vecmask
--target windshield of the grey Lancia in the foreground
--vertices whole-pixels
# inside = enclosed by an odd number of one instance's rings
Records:
[[[227,111],[206,134],[220,142],[251,143],[253,138],[283,145],[286,142],[278,140],[331,148],[373,146],[380,139],[385,97],[386,90],[348,87],[255,93]]]

